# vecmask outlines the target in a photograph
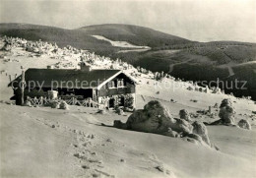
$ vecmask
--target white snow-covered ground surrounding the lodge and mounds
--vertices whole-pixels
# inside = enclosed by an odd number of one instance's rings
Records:
[[[45,68],[58,63],[60,67],[75,68],[79,55],[70,54],[63,59],[67,54],[36,57],[22,48],[0,51],[0,71],[4,71],[0,75],[0,100],[8,101],[12,96],[13,90],[7,88],[9,75],[12,79],[15,74],[20,75],[21,66]],[[107,58],[95,57],[98,60],[94,68],[109,68],[113,64]],[[116,64],[116,67],[122,66]],[[125,73],[137,72],[130,68]],[[235,122],[246,119],[252,130],[207,126],[211,142],[220,148],[215,150],[180,138],[108,127],[114,120],[125,122],[131,113],[120,116],[107,111],[102,115],[96,113],[96,108],[82,106],[60,110],[3,102],[0,103],[0,177],[256,177],[256,118],[252,116],[256,109],[252,100],[188,90],[190,84],[171,79],[156,82],[148,75],[135,78],[138,109],[150,100],[159,100],[173,117],[178,117],[180,109],[195,113],[230,98],[236,110]],[[166,88],[168,82],[171,83]],[[219,117],[202,115],[192,119],[212,122]]]

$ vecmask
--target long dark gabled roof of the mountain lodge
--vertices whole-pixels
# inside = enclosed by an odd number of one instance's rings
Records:
[[[74,69],[28,69],[25,72],[25,81],[27,87],[29,84],[32,84],[32,87],[35,84],[35,87],[55,88],[58,84],[59,88],[71,88],[73,84],[73,88],[87,89],[97,88],[109,78],[120,73],[120,70],[92,70],[88,72]],[[21,76],[19,76],[8,87],[18,87],[21,80]],[[63,82],[62,86],[60,86],[61,82]]]

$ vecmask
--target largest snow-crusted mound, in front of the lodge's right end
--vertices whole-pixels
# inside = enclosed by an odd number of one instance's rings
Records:
[[[126,123],[115,120],[114,127],[173,138],[184,137],[189,142],[212,147],[207,128],[203,123],[196,121],[190,124],[184,119],[171,118],[168,110],[157,100],[150,101],[144,109],[134,111]]]

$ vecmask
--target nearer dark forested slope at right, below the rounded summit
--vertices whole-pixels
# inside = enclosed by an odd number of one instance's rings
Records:
[[[227,84],[221,87],[228,93],[233,92],[239,97],[250,95],[256,100],[255,44],[222,43],[188,49],[117,53],[111,57],[154,72],[163,71],[186,81],[206,81],[209,84],[220,80]],[[234,86],[236,79],[246,81],[246,89],[228,89]]]

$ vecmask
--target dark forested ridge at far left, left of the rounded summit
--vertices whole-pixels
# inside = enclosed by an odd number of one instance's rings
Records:
[[[65,30],[29,24],[0,24],[0,34],[23,37],[29,40],[56,42],[60,47],[72,45],[83,49],[108,48],[111,44],[98,40],[82,30]]]

